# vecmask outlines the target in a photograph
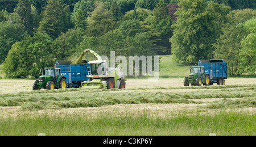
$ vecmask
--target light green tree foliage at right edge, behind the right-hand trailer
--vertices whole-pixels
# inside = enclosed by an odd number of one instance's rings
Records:
[[[214,44],[215,58],[223,58],[228,62],[231,76],[243,72],[255,72],[255,12],[256,10],[234,10],[228,14],[228,22],[222,28],[223,35]],[[246,20],[247,19],[247,20]],[[255,68],[254,68],[255,69]]]

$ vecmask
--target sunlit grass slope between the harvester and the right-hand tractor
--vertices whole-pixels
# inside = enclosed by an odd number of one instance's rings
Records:
[[[189,66],[172,62],[172,55],[160,56],[159,76],[161,78],[184,78],[189,74]]]

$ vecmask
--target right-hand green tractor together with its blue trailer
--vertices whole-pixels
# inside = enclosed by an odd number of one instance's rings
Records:
[[[184,78],[184,86],[225,85],[228,78],[228,64],[222,59],[199,60],[198,66],[192,66],[189,77]]]

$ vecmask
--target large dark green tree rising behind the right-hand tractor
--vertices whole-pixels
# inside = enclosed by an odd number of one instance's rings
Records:
[[[219,37],[219,26],[222,25],[220,16],[225,16],[230,8],[205,0],[181,0],[179,6],[181,8],[175,12],[179,16],[173,25],[174,36],[171,38],[174,61],[195,64],[201,59],[212,58],[212,44]],[[222,15],[215,7],[222,10]]]

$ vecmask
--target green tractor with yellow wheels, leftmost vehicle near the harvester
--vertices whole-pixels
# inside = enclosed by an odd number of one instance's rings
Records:
[[[45,68],[39,80],[33,83],[32,88],[33,90],[66,89],[67,79],[60,74],[59,68]]]

